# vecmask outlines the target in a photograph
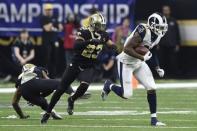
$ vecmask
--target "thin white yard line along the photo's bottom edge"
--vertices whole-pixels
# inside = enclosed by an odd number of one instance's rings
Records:
[[[197,129],[197,126],[110,126],[110,125],[0,125],[0,127],[70,127],[70,128],[165,128],[165,129]]]

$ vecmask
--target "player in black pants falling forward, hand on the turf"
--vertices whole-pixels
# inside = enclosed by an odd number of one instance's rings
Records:
[[[31,105],[37,105],[46,111],[48,107],[46,96],[49,96],[60,84],[60,81],[49,79],[47,76],[48,71],[43,67],[36,67],[33,64],[25,64],[23,66],[22,73],[19,75],[16,82],[16,91],[12,99],[12,106],[20,119],[26,119],[29,116],[24,115],[22,112],[19,101],[21,96],[31,103]],[[70,87],[65,91],[67,94],[73,94],[74,91]],[[88,94],[83,96],[88,98]],[[52,111],[51,116],[54,119],[61,119],[61,116],[57,115],[55,111]]]

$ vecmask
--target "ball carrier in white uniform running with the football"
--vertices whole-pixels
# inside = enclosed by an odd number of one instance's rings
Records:
[[[138,53],[135,48],[144,46],[144,48],[152,49],[157,45],[160,39],[165,35],[168,29],[168,24],[165,16],[159,13],[153,13],[149,16],[147,24],[139,24],[132,34],[126,39],[124,50],[117,56],[118,73],[120,77],[120,86],[105,81],[101,97],[106,99],[107,95],[113,91],[116,95],[127,99],[132,96],[131,88],[132,75],[145,87],[147,90],[147,100],[151,113],[152,126],[164,126],[157,119],[157,97],[156,84],[152,72],[145,63],[152,57],[150,51],[145,55]],[[163,75],[163,70],[157,70],[159,75]]]

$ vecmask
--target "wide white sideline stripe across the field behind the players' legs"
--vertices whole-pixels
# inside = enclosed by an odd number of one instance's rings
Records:
[[[103,85],[91,85],[89,90],[98,91],[101,90]],[[197,83],[159,83],[157,84],[159,89],[176,89],[176,88],[197,88]],[[73,86],[74,89],[77,86]],[[142,85],[138,86],[139,89],[144,89]],[[13,93],[15,88],[0,88],[0,93]]]

